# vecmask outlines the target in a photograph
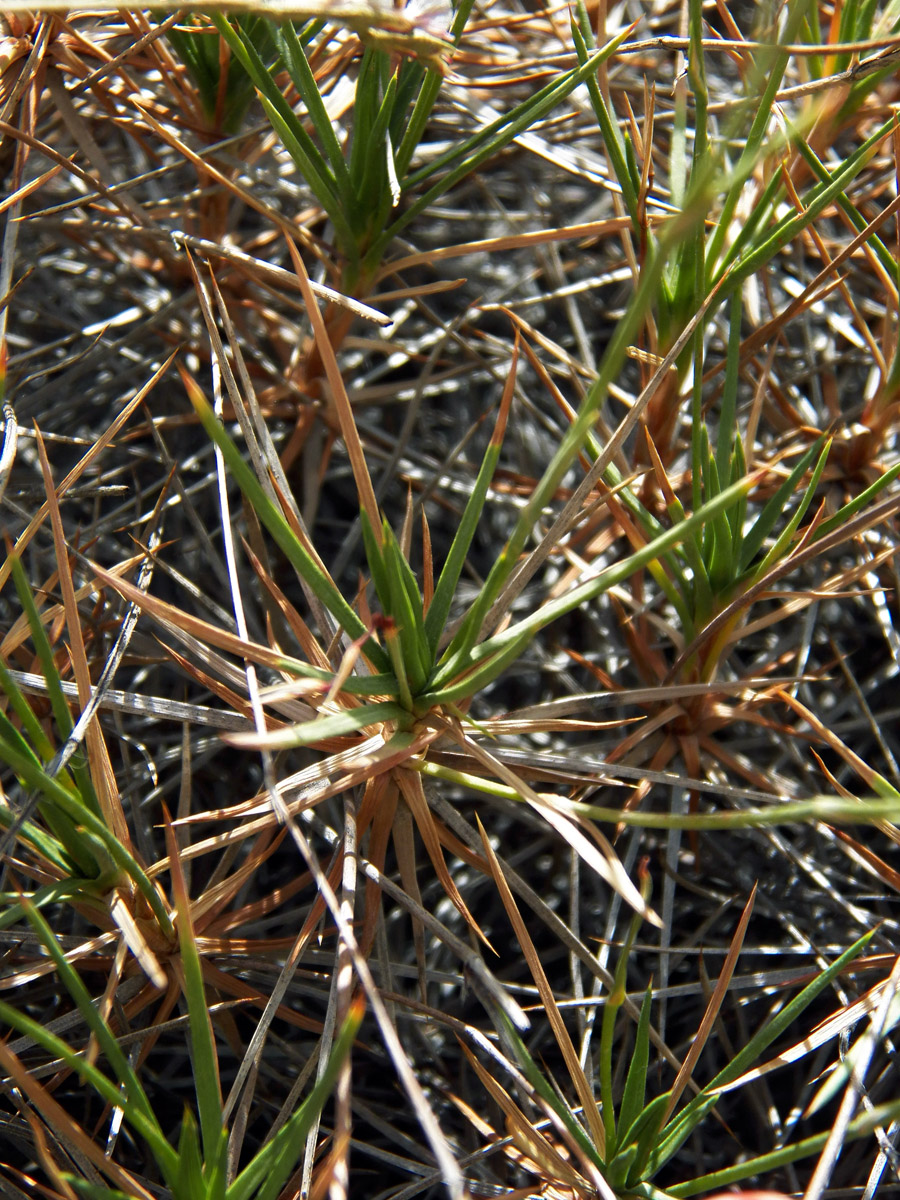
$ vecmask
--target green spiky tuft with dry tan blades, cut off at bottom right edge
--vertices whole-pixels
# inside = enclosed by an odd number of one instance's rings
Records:
[[[797,1020],[828,984],[839,976],[841,970],[846,968],[862,953],[869,942],[869,936],[859,938],[845,954],[829,964],[784,1006],[778,1016],[756,1031],[727,1066],[706,1086],[697,1087],[694,1084],[692,1074],[715,1021],[720,1016],[720,1009],[737,966],[752,911],[754,896],[751,895],[744,906],[740,922],[728,948],[728,955],[709,997],[701,1025],[691,1039],[690,1050],[673,1084],[648,1100],[650,1037],[655,1034],[650,1024],[652,986],[648,986],[641,1004],[628,1072],[624,1073],[623,1078],[623,1072],[617,1070],[617,1058],[622,1044],[616,1036],[617,1021],[625,1000],[628,962],[640,924],[640,918],[632,918],[619,950],[610,995],[604,1006],[595,1064],[599,1076],[598,1094],[595,1096],[592,1082],[578,1061],[553,996],[553,989],[535,953],[528,929],[486,836],[484,845],[503,896],[504,907],[515,929],[516,941],[522,947],[534,977],[569,1076],[568,1087],[560,1088],[558,1079],[551,1080],[534,1061],[520,1032],[504,1013],[496,1014],[497,1026],[502,1032],[503,1054],[496,1052],[492,1062],[485,1062],[466,1048],[467,1058],[473,1070],[506,1117],[506,1129],[511,1134],[506,1145],[508,1152],[515,1147],[520,1160],[523,1160],[524,1165],[533,1172],[542,1175],[547,1184],[558,1189],[557,1194],[559,1195],[572,1195],[589,1200],[600,1192],[612,1196],[643,1196],[647,1200],[650,1198],[661,1200],[664,1196],[697,1195],[713,1188],[752,1180],[761,1171],[776,1169],[823,1150],[829,1138],[828,1132],[796,1144],[779,1146],[766,1154],[748,1157],[731,1168],[710,1175],[682,1178],[679,1182],[662,1188],[655,1182],[670,1159],[678,1153],[702,1122],[710,1118],[721,1093],[730,1087],[745,1084],[754,1075],[752,1072],[748,1072],[748,1067]],[[659,1040],[658,1034],[655,1038]],[[790,1054],[782,1055],[782,1061],[796,1061],[800,1055],[810,1052],[816,1044],[816,1039],[809,1039]],[[509,1057],[504,1058],[504,1055],[509,1055]],[[496,1078],[498,1064],[502,1064],[506,1074],[511,1076],[516,1090],[526,1098],[527,1105],[533,1106],[545,1120],[550,1118],[547,1133],[535,1128],[534,1118],[526,1115],[526,1111]],[[846,1075],[844,1078],[846,1079]],[[679,1102],[689,1085],[694,1085],[695,1094],[679,1110]],[[570,1091],[572,1098],[577,1099],[577,1108],[566,1097],[566,1091]],[[847,1140],[870,1134],[881,1122],[895,1120],[898,1112],[900,1112],[900,1102],[896,1100],[866,1112],[847,1129]],[[484,1121],[475,1114],[472,1114],[472,1120],[484,1126]],[[499,1141],[499,1139],[497,1140]],[[522,1156],[524,1156],[523,1159]]]

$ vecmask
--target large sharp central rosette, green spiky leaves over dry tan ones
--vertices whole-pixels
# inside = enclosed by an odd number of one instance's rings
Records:
[[[311,316],[316,326],[320,324],[322,317],[314,307],[311,293],[308,298],[313,305]],[[283,594],[275,589],[271,580],[264,578],[263,582],[276,596],[290,628],[302,635],[301,646],[307,661],[288,658],[269,648],[244,646],[232,635],[216,631],[205,623],[191,622],[186,614],[180,614],[169,606],[140,594],[121,578],[106,571],[97,574],[104,582],[167,624],[187,625],[202,632],[212,643],[227,646],[233,650],[240,648],[257,661],[286,671],[288,677],[299,676],[292,690],[302,696],[311,707],[316,714],[314,720],[274,732],[260,730],[257,736],[235,736],[230,740],[268,751],[340,745],[335,758],[323,760],[314,776],[310,775],[310,782],[332,780],[320,793],[324,798],[337,788],[350,787],[368,779],[371,809],[364,809],[367,814],[364,826],[374,817],[376,811],[379,814],[380,832],[377,832],[377,841],[382,847],[390,828],[390,814],[396,810],[401,799],[409,805],[448,894],[473,925],[474,922],[444,868],[439,850],[443,840],[458,852],[461,850],[458,840],[440,829],[428,810],[422,791],[421,770],[428,746],[442,738],[455,740],[472,757],[473,766],[476,764],[480,769],[487,766],[488,772],[498,776],[502,784],[512,780],[514,786],[521,787],[524,800],[536,808],[557,832],[625,895],[631,905],[640,912],[649,914],[649,910],[634,884],[628,881],[599,832],[594,830],[593,838],[599,841],[600,851],[584,838],[577,828],[577,822],[572,822],[562,810],[554,808],[552,798],[538,796],[523,780],[516,781],[516,776],[508,768],[473,740],[469,730],[476,732],[478,726],[469,726],[464,709],[481,689],[521,658],[541,628],[578,604],[602,594],[619,580],[628,578],[642,563],[655,559],[668,546],[689,536],[692,529],[709,520],[716,511],[736,503],[745,493],[748,484],[744,480],[737,481],[732,487],[724,490],[706,509],[685,517],[677,528],[664,532],[654,542],[630,554],[596,580],[574,589],[560,601],[544,605],[526,620],[485,638],[484,626],[488,622],[497,596],[515,570],[520,547],[524,545],[530,518],[530,512],[526,511],[500,557],[493,578],[487,581],[478,602],[457,624],[456,630],[449,634],[448,624],[457,582],[500,454],[503,431],[515,386],[515,362],[504,391],[494,434],[437,581],[432,580],[430,554],[426,552],[426,582],[422,594],[400,542],[374,510],[361,443],[355,433],[347,397],[342,396],[340,373],[336,371],[336,362],[329,355],[329,343],[324,335],[323,344],[326,347],[325,361],[332,365],[332,380],[336,396],[340,397],[338,412],[344,414],[347,444],[350,448],[364,503],[361,520],[368,566],[383,610],[377,617],[370,616],[368,619],[354,611],[337,590],[328,571],[292,522],[289,506],[286,508],[283,500],[274,502],[268,494],[265,475],[262,479],[257,478],[252,468],[245,463],[238,448],[220,426],[199,388],[187,376],[185,382],[204,427],[253,504],[260,522],[272,534],[310,593],[338,623],[340,630],[346,636],[347,643],[337,670],[329,664],[328,647],[313,638],[300,614],[292,608]],[[262,462],[258,451],[253,457]],[[563,468],[564,464],[554,464],[556,472]],[[550,488],[552,485],[553,474],[550,474],[544,481],[544,488]],[[425,536],[427,545],[427,527]],[[275,696],[277,695],[276,691]],[[383,794],[386,786],[383,776],[389,779],[386,797]],[[491,786],[487,784],[485,788],[488,794]],[[382,854],[376,854],[376,860]],[[467,853],[463,857],[470,859]],[[370,917],[371,931],[374,929],[371,924],[373,919]]]

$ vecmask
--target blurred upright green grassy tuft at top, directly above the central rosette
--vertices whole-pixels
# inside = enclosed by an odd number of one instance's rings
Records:
[[[338,140],[304,44],[319,30],[320,23],[312,24],[302,38],[290,22],[271,23],[265,38],[274,40],[278,59],[268,67],[246,25],[233,26],[224,16],[212,17],[230,53],[253,80],[274,130],[334,224],[342,259],[336,265],[343,290],[366,295],[401,230],[455,182],[475,172],[551,113],[616,53],[629,32],[625,30],[611,38],[581,66],[552,79],[487,128],[455,143],[434,161],[414,170],[413,157],[440,88],[440,53],[449,53],[452,43],[460,41],[470,11],[472,0],[464,0],[452,13],[448,10],[448,24],[444,29],[437,26],[448,38],[445,43],[428,32],[434,28],[433,17],[430,24],[422,22],[426,35],[422,41],[430,50],[427,70],[415,56],[424,49],[416,41],[420,34],[407,41],[400,37],[395,43],[386,37],[389,48],[385,49],[385,37],[378,31],[379,38],[366,48],[360,64],[353,128],[346,145]],[[400,49],[398,55],[391,53],[395,48]],[[306,132],[305,122],[294,113],[274,78],[280,67],[287,71],[304,101],[316,140]],[[401,208],[404,198],[410,203]]]

